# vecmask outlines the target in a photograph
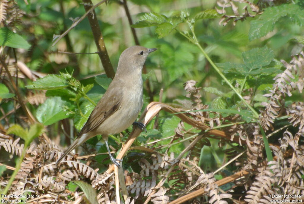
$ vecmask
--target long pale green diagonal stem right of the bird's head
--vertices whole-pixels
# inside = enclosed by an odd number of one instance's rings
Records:
[[[189,23],[188,23],[189,25]],[[212,62],[212,60],[209,58],[209,56],[207,55],[207,53],[205,52],[205,50],[202,48],[202,46],[199,44],[199,41],[196,38],[195,32],[194,32],[194,25],[190,26],[190,29],[192,31],[192,37],[193,39],[189,38],[188,36],[186,36],[184,33],[181,33],[183,36],[185,36],[188,40],[190,40],[193,44],[195,44],[197,47],[199,47],[199,49],[202,51],[202,53],[205,55],[205,58],[208,60],[208,62],[212,65],[212,67],[216,70],[216,72],[219,74],[219,76],[221,76],[224,81],[230,86],[230,88],[234,91],[234,93],[237,94],[237,96],[240,98],[240,100],[243,101],[243,103],[252,111],[252,113],[254,114],[254,116],[256,118],[259,117],[259,114],[254,110],[254,108],[252,106],[250,106],[246,100],[242,97],[242,95],[234,88],[234,86],[232,86],[232,84],[228,81],[228,79],[223,75],[223,73],[219,70],[219,68]]]

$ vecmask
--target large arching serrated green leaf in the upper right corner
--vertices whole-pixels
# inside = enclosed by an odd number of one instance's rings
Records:
[[[250,22],[249,40],[261,38],[274,30],[275,23],[283,16],[290,16],[295,23],[304,24],[304,12],[299,5],[282,4],[264,9],[259,19]]]

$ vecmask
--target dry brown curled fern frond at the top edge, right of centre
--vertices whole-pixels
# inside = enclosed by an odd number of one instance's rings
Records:
[[[244,13],[239,13],[239,8],[237,5],[235,5],[236,2],[246,4],[243,8]],[[230,20],[233,20],[233,26],[235,26],[239,20],[244,21],[247,17],[254,17],[262,13],[258,5],[246,0],[218,0],[216,3],[220,7],[220,9],[216,8],[216,11],[219,14],[223,14],[223,17],[220,19],[219,24],[223,22],[224,26],[226,26]],[[248,6],[253,14],[248,11]],[[231,7],[234,15],[226,14],[227,8],[229,7]]]

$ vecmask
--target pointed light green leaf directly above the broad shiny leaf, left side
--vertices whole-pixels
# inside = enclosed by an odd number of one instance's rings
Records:
[[[37,79],[33,82],[33,85],[28,85],[26,88],[28,89],[43,89],[43,90],[54,90],[54,89],[62,89],[67,87],[63,76],[50,74],[41,79]]]

